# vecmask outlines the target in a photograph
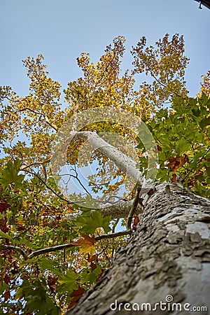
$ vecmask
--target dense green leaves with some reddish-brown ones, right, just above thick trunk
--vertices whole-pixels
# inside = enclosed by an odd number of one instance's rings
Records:
[[[161,109],[148,123],[159,153],[157,179],[179,180],[205,197],[210,197],[209,109],[210,99],[204,93],[176,97],[170,109]],[[144,156],[140,161],[141,169],[146,167]]]

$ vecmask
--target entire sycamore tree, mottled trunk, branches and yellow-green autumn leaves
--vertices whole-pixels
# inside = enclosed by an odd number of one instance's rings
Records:
[[[2,314],[111,314],[163,283],[207,305],[210,73],[188,97],[179,34],[141,38],[122,73],[124,52],[118,36],[97,64],[82,53],[65,106],[42,55],[23,61],[27,96],[1,87]]]

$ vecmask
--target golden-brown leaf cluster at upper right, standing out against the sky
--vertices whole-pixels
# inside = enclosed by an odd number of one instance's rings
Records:
[[[140,85],[141,96],[139,101],[146,106],[160,106],[174,96],[185,96],[184,80],[188,58],[184,55],[183,36],[175,34],[169,40],[169,34],[152,45],[146,46],[146,38],[142,37],[137,46],[132,49],[134,56],[133,73],[142,73],[151,76],[153,83],[144,82]]]

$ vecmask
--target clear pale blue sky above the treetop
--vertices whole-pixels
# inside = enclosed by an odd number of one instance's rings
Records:
[[[123,68],[130,68],[130,48],[141,36],[153,44],[166,33],[183,34],[190,65],[186,78],[190,95],[200,88],[200,76],[210,68],[210,10],[193,0],[1,0],[0,85],[21,96],[29,81],[22,59],[45,57],[48,71],[62,87],[81,76],[80,52],[93,62],[114,37],[127,38]]]

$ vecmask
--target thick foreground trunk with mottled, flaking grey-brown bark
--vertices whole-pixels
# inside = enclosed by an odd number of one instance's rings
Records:
[[[210,314],[209,200],[174,183],[141,198],[137,230],[68,314]]]

